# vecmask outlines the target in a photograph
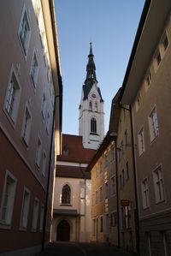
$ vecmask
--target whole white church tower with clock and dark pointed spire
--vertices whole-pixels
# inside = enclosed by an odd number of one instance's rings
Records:
[[[96,66],[90,43],[85,84],[80,100],[79,135],[85,148],[97,149],[104,137],[103,98],[97,86]]]

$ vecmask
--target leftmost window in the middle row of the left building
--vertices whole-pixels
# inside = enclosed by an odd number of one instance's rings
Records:
[[[13,123],[15,123],[16,120],[20,96],[21,88],[18,80],[16,79],[15,70],[12,68],[9,76],[9,86],[7,89],[4,109]]]

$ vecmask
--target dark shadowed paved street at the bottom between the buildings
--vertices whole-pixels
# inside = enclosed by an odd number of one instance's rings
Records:
[[[100,243],[50,243],[38,256],[133,256],[131,253],[123,253],[121,249],[106,246]]]

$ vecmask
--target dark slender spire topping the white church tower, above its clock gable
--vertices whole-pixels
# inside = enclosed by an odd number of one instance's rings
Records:
[[[85,79],[85,83],[87,80],[96,80],[97,81],[97,77],[96,77],[96,66],[94,63],[94,55],[92,53],[92,43],[90,43],[91,47],[90,47],[90,53],[88,55],[88,63],[86,65],[86,79]]]

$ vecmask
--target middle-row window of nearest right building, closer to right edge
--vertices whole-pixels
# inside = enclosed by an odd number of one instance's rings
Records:
[[[158,121],[156,115],[156,107],[151,111],[149,116],[150,142],[158,135]]]

